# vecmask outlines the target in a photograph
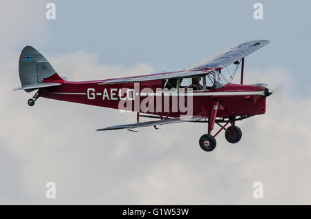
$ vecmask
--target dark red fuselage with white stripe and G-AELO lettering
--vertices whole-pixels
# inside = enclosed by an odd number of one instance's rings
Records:
[[[253,116],[265,113],[265,87],[258,85],[228,83],[214,90],[162,94],[164,83],[161,79],[106,85],[99,84],[107,80],[69,82],[49,79],[48,81],[61,82],[62,85],[42,88],[39,90],[39,96],[114,109],[120,109],[120,101],[125,100],[128,111],[158,116],[179,117],[186,114],[185,108],[182,110],[179,104],[176,106],[176,100],[178,103],[186,100],[185,106],[191,110],[192,115],[207,118],[211,115],[214,101],[220,103],[217,117]],[[190,96],[193,98],[191,105],[188,103]],[[153,105],[151,102],[147,103],[146,98],[152,100]],[[147,107],[141,107],[142,105]]]

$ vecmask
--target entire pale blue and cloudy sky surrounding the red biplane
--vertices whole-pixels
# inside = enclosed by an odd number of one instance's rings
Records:
[[[51,1],[48,20],[48,2],[0,0],[0,204],[310,205],[311,3]],[[95,132],[135,114],[44,98],[28,107],[32,93],[12,92],[25,45],[82,81],[182,70],[253,39],[271,43],[245,58],[245,83],[277,92],[264,115],[238,122],[240,143],[222,133],[212,153],[198,146],[204,124]]]

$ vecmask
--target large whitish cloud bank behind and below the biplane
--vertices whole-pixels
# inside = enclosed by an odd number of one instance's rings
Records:
[[[69,79],[104,79],[149,73],[146,63],[129,68],[104,65],[95,54],[74,52],[47,57]],[[296,100],[283,90],[267,98],[267,112],[237,125],[240,143],[217,136],[214,152],[203,152],[198,138],[206,125],[182,123],[139,133],[95,132],[98,127],[134,123],[117,110],[11,92],[18,83],[15,59],[1,63],[0,143],[2,203],[25,204],[308,204],[311,100]],[[258,77],[264,79],[258,81]],[[274,80],[270,80],[274,79]],[[272,86],[293,80],[282,68],[250,70],[247,81]],[[281,98],[279,98],[281,97]],[[4,156],[4,155],[3,155]],[[57,184],[57,198],[45,198],[46,183]],[[256,181],[263,200],[252,196]],[[10,184],[8,184],[10,182]],[[9,195],[11,198],[8,198]]]

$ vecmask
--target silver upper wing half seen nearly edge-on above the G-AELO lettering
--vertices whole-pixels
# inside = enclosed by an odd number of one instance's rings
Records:
[[[113,84],[113,83],[130,83],[130,82],[140,82],[140,81],[152,81],[152,80],[158,80],[158,79],[174,79],[179,77],[185,77],[185,76],[194,76],[194,75],[200,75],[200,74],[207,74],[208,72],[213,71],[214,69],[211,69],[207,72],[202,72],[200,70],[193,70],[193,71],[180,71],[180,72],[164,72],[160,74],[149,74],[144,76],[134,76],[130,78],[124,78],[124,79],[112,79],[109,81],[105,81],[102,83],[99,83],[99,85],[106,85],[106,84]]]

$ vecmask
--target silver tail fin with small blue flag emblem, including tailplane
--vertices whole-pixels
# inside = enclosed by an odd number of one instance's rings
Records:
[[[61,83],[49,83],[49,80],[43,79],[62,78],[40,52],[28,45],[23,48],[19,56],[19,79],[21,80],[21,87],[17,87],[15,90],[23,89],[26,92],[32,92],[41,87],[61,85]]]

